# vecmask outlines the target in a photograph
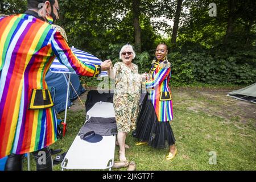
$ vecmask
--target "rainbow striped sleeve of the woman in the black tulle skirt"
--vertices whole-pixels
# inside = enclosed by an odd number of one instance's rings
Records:
[[[170,75],[170,72],[171,68],[161,68],[159,72],[156,73],[153,80],[146,82],[146,88],[152,88],[160,84],[164,81],[164,79],[166,79]]]

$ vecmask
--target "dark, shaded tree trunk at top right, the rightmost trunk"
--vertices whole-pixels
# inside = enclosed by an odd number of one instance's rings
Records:
[[[229,0],[229,18],[228,18],[228,26],[226,27],[226,35],[224,38],[224,44],[228,41],[228,38],[230,34],[233,32],[234,28],[234,21],[235,21],[235,14],[234,14],[234,9],[235,9],[235,1],[234,0]]]

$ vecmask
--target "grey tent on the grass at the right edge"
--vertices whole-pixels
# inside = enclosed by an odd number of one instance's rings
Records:
[[[256,83],[250,86],[246,86],[245,88],[229,92],[228,96],[256,104]]]

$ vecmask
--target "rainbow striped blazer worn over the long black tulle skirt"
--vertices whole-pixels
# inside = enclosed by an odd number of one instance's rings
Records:
[[[168,83],[171,78],[171,64],[164,61],[153,61],[150,79],[146,82],[149,97],[155,109],[159,122],[167,122],[173,119],[171,89]],[[164,94],[170,96],[163,99]]]

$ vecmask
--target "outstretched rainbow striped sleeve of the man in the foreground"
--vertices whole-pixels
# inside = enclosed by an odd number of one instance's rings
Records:
[[[96,77],[101,73],[101,66],[94,64],[84,64],[71,51],[66,40],[60,32],[55,31],[51,40],[52,49],[60,63],[64,64],[69,71],[81,76]]]

